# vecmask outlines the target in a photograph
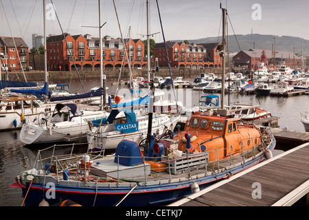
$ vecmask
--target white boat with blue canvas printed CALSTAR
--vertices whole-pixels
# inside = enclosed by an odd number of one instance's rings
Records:
[[[168,129],[173,130],[179,118],[179,115],[154,113],[151,133],[162,134]],[[93,128],[87,133],[92,151],[115,149],[124,138],[140,143],[148,131],[148,115],[139,115],[131,109],[113,109],[106,120],[92,123]]]

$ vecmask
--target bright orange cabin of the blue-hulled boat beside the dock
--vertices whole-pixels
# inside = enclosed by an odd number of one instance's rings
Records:
[[[239,155],[261,143],[260,131],[253,124],[242,124],[239,118],[203,114],[193,114],[178,138],[179,151],[207,151],[209,162]]]

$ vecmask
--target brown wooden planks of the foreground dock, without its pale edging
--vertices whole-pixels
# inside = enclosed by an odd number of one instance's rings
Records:
[[[214,188],[181,206],[272,206],[309,179],[309,144]],[[253,199],[261,184],[261,199]]]

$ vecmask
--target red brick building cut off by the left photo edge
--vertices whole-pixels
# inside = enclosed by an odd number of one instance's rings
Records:
[[[8,71],[20,71],[21,66],[23,70],[29,67],[28,46],[20,37],[14,37],[13,41],[10,36],[0,36],[0,52],[4,54],[2,61]]]

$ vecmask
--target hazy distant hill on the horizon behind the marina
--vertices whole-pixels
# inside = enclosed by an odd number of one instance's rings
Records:
[[[275,38],[275,40],[274,40]],[[238,46],[238,43],[239,46]],[[222,42],[222,37],[207,37],[205,39],[189,40],[190,43],[214,43]],[[275,50],[290,51],[295,54],[302,54],[309,56],[309,41],[295,36],[275,36],[263,34],[247,34],[247,35],[229,35],[229,52],[240,52],[240,50],[253,49],[253,42],[255,49],[272,50],[275,42]],[[302,42],[302,43],[301,43]]]

